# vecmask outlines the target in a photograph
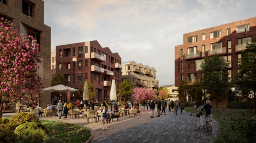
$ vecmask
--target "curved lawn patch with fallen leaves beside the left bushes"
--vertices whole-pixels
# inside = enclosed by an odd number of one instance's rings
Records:
[[[92,136],[91,131],[79,125],[42,120],[49,129],[49,138],[61,138],[66,142],[86,142]]]

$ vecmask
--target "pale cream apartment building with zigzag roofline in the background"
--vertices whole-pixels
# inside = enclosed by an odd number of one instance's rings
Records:
[[[130,80],[135,87],[154,90],[158,94],[159,80],[156,80],[156,69],[134,61],[122,63],[122,80]]]

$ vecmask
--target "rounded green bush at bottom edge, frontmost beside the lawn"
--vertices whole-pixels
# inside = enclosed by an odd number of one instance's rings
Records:
[[[42,129],[25,129],[17,137],[18,143],[44,142],[47,135]]]

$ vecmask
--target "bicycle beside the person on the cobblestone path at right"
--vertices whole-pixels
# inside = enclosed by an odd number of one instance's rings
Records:
[[[198,111],[199,113],[197,113],[196,117],[196,130],[200,130],[201,128],[204,129],[205,133],[207,136],[209,136],[212,133],[212,123],[209,120],[206,120],[207,117],[209,117],[208,115],[205,115],[205,120],[203,123],[203,112],[202,111]]]

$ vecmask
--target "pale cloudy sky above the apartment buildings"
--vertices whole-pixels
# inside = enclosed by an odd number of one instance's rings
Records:
[[[256,16],[255,0],[44,0],[51,52],[58,45],[98,40],[156,69],[159,87],[174,85],[174,47],[183,34]]]

